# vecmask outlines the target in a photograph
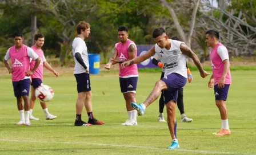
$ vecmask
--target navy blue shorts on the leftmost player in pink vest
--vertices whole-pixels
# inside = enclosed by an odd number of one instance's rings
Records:
[[[24,79],[20,81],[13,81],[14,96],[29,96],[30,79]]]

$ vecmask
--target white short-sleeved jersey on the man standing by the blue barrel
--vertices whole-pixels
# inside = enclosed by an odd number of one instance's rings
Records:
[[[75,59],[75,53],[79,53],[82,56],[83,62],[87,66],[89,70],[89,58],[88,58],[88,52],[87,52],[87,46],[85,44],[85,41],[80,37],[75,37],[72,43],[72,53],[73,57]],[[74,68],[74,74],[81,74],[85,72],[85,68],[78,63],[77,59],[75,59],[75,68]]]

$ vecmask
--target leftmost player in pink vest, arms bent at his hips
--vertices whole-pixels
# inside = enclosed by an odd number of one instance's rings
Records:
[[[15,46],[10,47],[5,55],[5,67],[11,74],[13,81],[14,96],[17,99],[17,106],[21,119],[16,125],[28,125],[29,121],[29,89],[30,89],[30,76],[33,75],[40,63],[39,56],[30,48],[23,44],[23,34],[16,32],[14,34]],[[29,70],[30,58],[35,60],[34,67]],[[11,67],[8,60],[11,59]],[[24,101],[24,107],[22,104]],[[25,109],[25,115],[24,115]]]

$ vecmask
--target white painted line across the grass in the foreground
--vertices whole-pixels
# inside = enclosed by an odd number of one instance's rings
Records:
[[[11,141],[11,142],[38,142],[38,143],[59,143],[59,144],[86,144],[86,145],[113,146],[113,147],[124,147],[124,148],[154,149],[154,150],[167,150],[167,151],[178,151],[178,152],[213,153],[213,154],[255,154],[255,153],[245,153],[245,152],[215,152],[215,151],[206,151],[206,150],[187,150],[187,149],[168,150],[168,149],[163,149],[163,148],[151,148],[151,147],[134,146],[134,145],[102,144],[102,143],[93,143],[93,142],[29,141],[29,140],[6,140],[6,139],[0,139],[0,141]]]

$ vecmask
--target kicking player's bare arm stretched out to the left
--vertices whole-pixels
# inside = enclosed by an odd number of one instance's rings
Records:
[[[127,66],[130,66],[132,64],[137,64],[137,63],[141,63],[144,62],[145,60],[149,59],[150,56],[153,56],[155,54],[155,46],[151,47],[151,49],[149,51],[147,51],[145,54],[141,55],[141,56],[137,56],[136,58],[129,60],[127,62],[123,62],[121,64],[122,68],[125,68]]]

